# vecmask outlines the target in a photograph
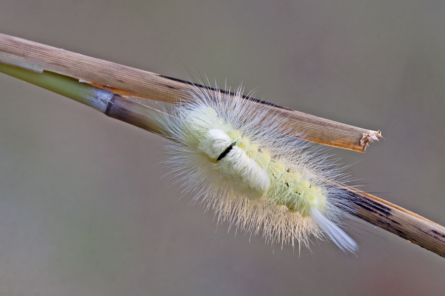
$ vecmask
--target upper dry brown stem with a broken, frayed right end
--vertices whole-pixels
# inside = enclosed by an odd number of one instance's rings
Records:
[[[176,78],[119,65],[45,44],[0,34],[0,63],[35,72],[63,74],[98,87],[133,97],[175,103],[196,87],[204,87]],[[229,94],[233,96],[233,94]],[[270,115],[286,118],[283,131],[302,135],[306,141],[364,152],[368,143],[382,136],[378,131],[320,118],[246,97],[246,104],[258,105]]]

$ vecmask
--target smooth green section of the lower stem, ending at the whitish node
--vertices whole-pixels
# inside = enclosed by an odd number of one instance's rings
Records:
[[[113,96],[113,93],[110,91],[52,72],[44,71],[43,73],[37,73],[1,63],[0,72],[35,84],[101,112],[104,112],[107,107],[105,98],[109,99]]]

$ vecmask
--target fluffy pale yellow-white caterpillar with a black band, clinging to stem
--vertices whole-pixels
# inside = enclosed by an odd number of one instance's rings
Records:
[[[349,195],[326,182],[342,181],[340,169],[326,165],[327,157],[307,142],[278,133],[284,119],[246,104],[242,91],[229,99],[224,91],[196,87],[182,98],[186,104],[159,117],[177,143],[168,147],[168,164],[184,192],[213,209],[218,221],[263,231],[267,242],[309,247],[312,236],[329,238],[354,253],[358,247],[340,222],[349,217]]]

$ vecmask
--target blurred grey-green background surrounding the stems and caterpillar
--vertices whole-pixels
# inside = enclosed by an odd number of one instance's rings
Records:
[[[0,32],[380,129],[365,154],[329,153],[445,224],[444,15],[420,0],[2,0]],[[161,137],[4,74],[0,90],[0,295],[444,294],[445,259],[364,222],[357,256],[227,233],[164,177]]]

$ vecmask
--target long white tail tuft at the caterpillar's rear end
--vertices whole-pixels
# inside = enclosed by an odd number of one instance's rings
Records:
[[[345,253],[355,253],[358,250],[356,242],[339,226],[323,216],[316,208],[312,208],[310,216],[321,230]]]

